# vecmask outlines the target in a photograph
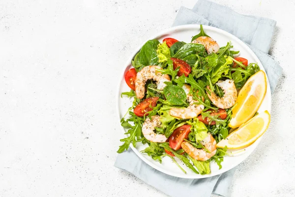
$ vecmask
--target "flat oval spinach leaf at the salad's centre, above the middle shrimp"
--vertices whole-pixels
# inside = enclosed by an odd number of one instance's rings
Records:
[[[164,90],[164,96],[168,102],[173,105],[187,105],[186,94],[184,90],[176,85],[167,85]]]

